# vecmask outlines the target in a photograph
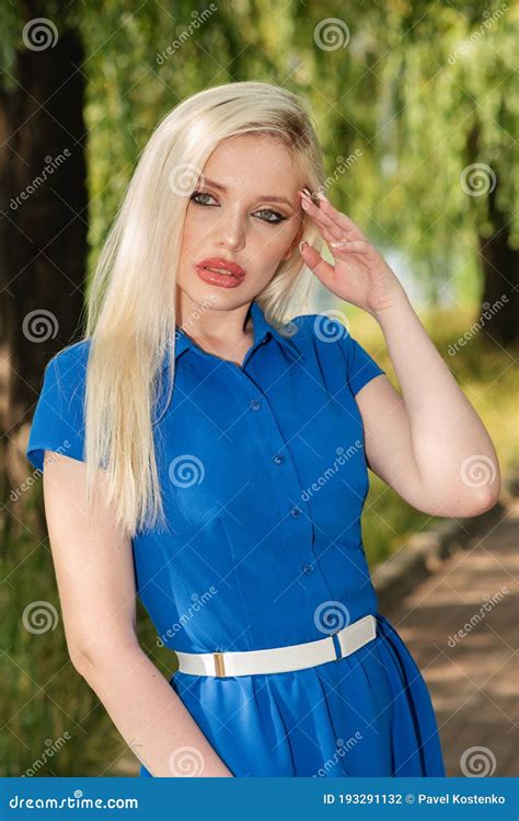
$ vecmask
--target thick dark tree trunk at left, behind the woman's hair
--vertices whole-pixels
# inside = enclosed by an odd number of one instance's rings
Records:
[[[20,32],[11,78],[0,79],[3,499],[27,477],[24,448],[44,367],[81,329],[88,229],[83,49],[78,32],[62,23],[58,32],[51,23],[67,16],[67,4],[62,14],[57,5],[46,14],[46,2],[21,4],[22,25],[50,20],[43,35]],[[9,519],[0,523],[3,534]]]

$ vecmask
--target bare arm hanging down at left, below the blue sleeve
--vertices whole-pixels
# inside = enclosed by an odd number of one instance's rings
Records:
[[[232,777],[138,643],[131,540],[117,532],[103,501],[94,521],[86,518],[84,464],[45,455],[45,512],[74,668],[153,776]],[[100,471],[100,499],[103,481]],[[193,748],[189,772],[180,763],[185,747]]]

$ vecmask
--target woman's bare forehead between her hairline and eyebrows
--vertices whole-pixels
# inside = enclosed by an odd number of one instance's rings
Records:
[[[287,147],[269,135],[239,135],[220,142],[203,175],[229,192],[258,190],[286,195],[299,187],[299,169]]]

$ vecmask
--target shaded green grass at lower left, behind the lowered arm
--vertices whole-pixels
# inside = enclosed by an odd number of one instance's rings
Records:
[[[36,531],[32,521],[41,509],[41,492],[39,482],[27,501],[24,535],[15,544],[7,540],[0,558],[0,773],[97,776],[107,768],[112,775],[125,775],[117,772],[117,761],[126,743],[68,656],[48,539],[45,533],[30,535],[30,530]],[[43,610],[50,614],[45,632],[24,626],[23,614],[33,602],[44,602]],[[153,660],[165,675],[168,662],[176,667],[174,657],[157,648],[154,629],[143,614],[139,603],[139,639],[154,647]],[[28,622],[36,628],[47,624],[36,615]]]

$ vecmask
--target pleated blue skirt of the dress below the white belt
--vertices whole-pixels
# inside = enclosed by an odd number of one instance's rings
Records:
[[[177,671],[171,686],[237,777],[445,776],[426,683],[374,615],[377,637],[337,661],[223,679]],[[203,768],[196,751],[172,748],[172,775]]]

